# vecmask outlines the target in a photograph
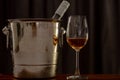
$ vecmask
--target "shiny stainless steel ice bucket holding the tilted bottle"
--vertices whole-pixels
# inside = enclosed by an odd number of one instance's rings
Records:
[[[13,57],[16,78],[49,78],[56,75],[59,21],[10,19],[7,44]]]

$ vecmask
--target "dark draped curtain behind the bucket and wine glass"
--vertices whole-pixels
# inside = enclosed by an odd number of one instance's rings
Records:
[[[7,19],[51,18],[62,0],[0,0],[0,73],[12,73],[12,57],[6,48],[2,28]],[[81,73],[120,73],[120,0],[68,0],[71,5],[62,18],[66,29],[69,15],[86,15],[89,40],[80,52]],[[64,39],[58,73],[74,73],[75,51]]]

